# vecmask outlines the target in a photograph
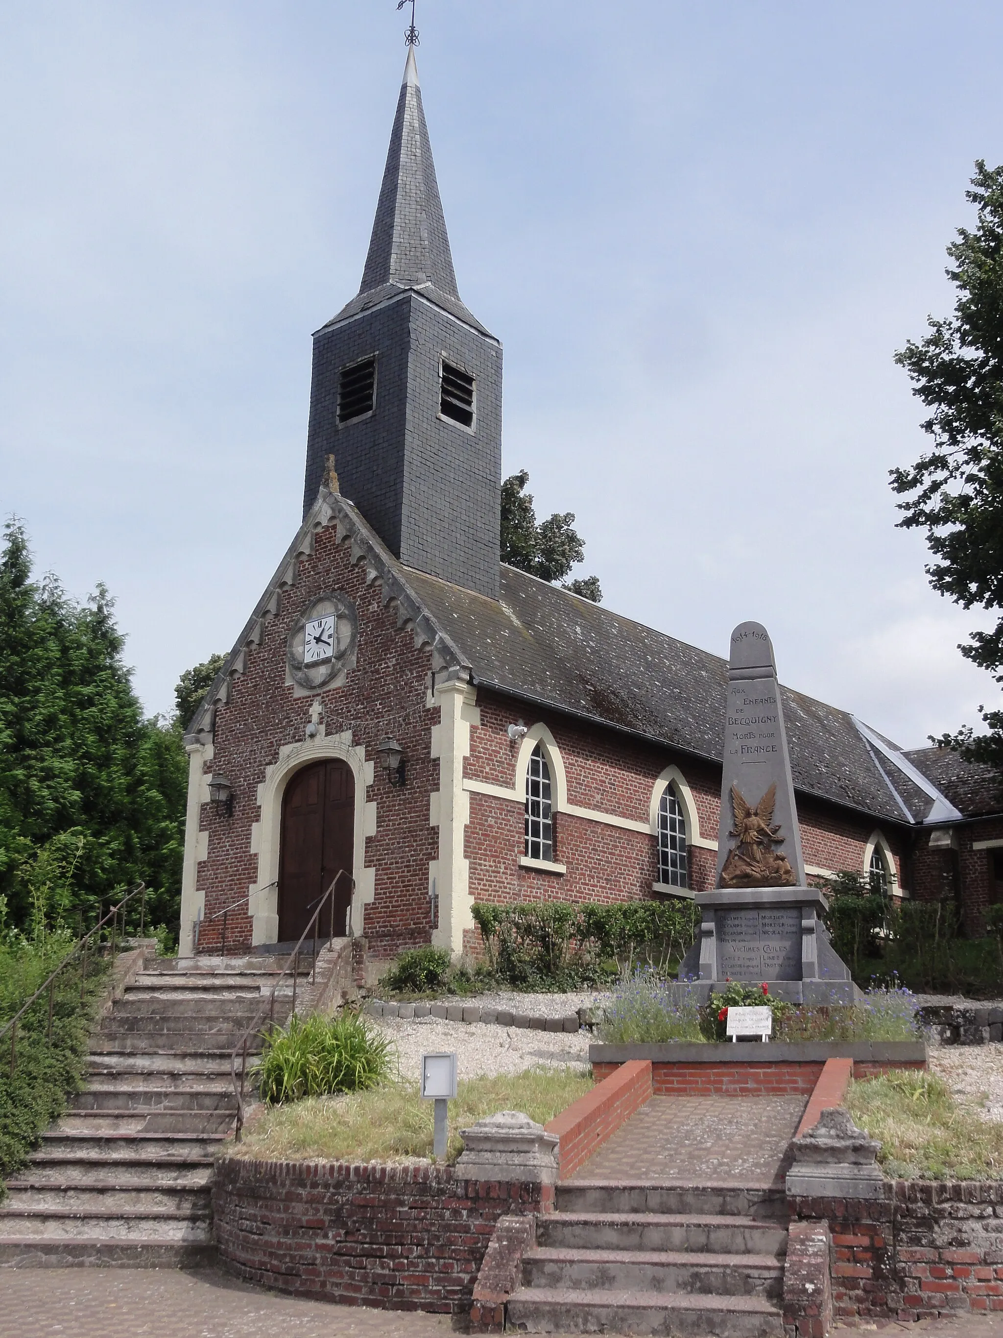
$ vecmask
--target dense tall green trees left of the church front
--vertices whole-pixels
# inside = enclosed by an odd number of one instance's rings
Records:
[[[0,553],[0,896],[15,927],[92,921],[143,879],[147,922],[177,922],[187,759],[144,720],[104,586],[78,603],[32,579],[24,526]]]

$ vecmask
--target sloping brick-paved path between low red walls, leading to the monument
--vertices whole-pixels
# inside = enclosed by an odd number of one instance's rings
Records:
[[[655,1096],[571,1179],[780,1184],[804,1108],[802,1096]]]

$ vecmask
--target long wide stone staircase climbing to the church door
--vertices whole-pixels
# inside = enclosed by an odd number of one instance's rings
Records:
[[[86,1090],[7,1181],[0,1264],[213,1258],[213,1161],[237,1113],[230,1054],[284,966],[275,957],[154,961],[135,975],[91,1038]],[[290,1006],[288,978],[278,1022]]]

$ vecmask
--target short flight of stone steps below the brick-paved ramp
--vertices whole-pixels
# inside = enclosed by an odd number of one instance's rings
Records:
[[[782,1338],[788,1218],[780,1188],[568,1180],[536,1219],[510,1327]]]

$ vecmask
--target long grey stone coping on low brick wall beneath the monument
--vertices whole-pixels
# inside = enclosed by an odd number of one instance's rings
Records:
[[[824,1064],[848,1058],[856,1064],[927,1064],[925,1041],[671,1041],[662,1045],[588,1046],[591,1064]]]

